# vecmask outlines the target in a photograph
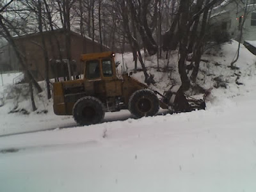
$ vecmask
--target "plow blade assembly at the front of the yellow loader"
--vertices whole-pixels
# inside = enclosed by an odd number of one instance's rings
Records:
[[[181,86],[174,85],[164,92],[163,102],[169,106],[169,109],[174,113],[189,112],[200,109],[205,109],[204,99],[194,99],[186,97]]]

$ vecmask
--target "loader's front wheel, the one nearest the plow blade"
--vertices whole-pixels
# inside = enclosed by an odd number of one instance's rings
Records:
[[[150,90],[138,90],[131,95],[128,107],[137,118],[154,116],[159,111],[159,100]]]

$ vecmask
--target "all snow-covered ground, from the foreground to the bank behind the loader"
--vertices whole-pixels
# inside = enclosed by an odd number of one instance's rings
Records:
[[[212,90],[205,111],[135,120],[124,110],[107,113],[102,124],[77,127],[71,116],[53,114],[44,93],[36,112],[46,114],[8,114],[14,99],[5,100],[0,191],[256,191],[256,57],[242,46],[239,70],[230,70],[236,45],[204,56],[209,61],[200,72],[207,75],[200,73],[198,81],[208,88],[215,77],[227,83],[227,89]],[[131,61],[125,54],[128,70]],[[150,63],[156,60],[148,58]],[[168,87],[168,75],[156,68],[148,72],[155,75],[154,88]],[[134,77],[143,79],[141,72]],[[18,108],[29,111],[29,100]],[[3,136],[46,129],[53,130]]]

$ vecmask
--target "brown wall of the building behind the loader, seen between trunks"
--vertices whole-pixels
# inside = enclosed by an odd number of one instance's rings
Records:
[[[49,56],[49,78],[67,77],[67,63],[61,63],[61,60],[67,60],[67,51],[65,45],[64,31],[58,31],[54,34],[47,32],[45,34],[45,44]],[[83,38],[76,33],[71,33],[71,66],[76,74],[83,73],[83,63],[81,63],[81,54],[90,52],[100,52],[100,45],[92,40]],[[45,77],[45,59],[42,49],[42,38],[39,34],[22,36],[15,38],[22,54],[26,56],[26,65],[31,70],[37,81],[44,80]],[[52,42],[52,43],[51,43]],[[58,49],[58,42],[60,49]],[[94,45],[94,46],[93,46]],[[105,48],[107,49],[107,48]],[[74,67],[76,63],[76,67]]]

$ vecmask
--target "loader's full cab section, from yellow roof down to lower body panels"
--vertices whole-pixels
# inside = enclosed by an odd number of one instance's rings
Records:
[[[114,52],[82,55],[84,61],[84,90],[102,100],[122,95],[122,80],[116,76]]]

